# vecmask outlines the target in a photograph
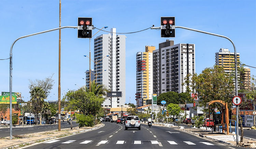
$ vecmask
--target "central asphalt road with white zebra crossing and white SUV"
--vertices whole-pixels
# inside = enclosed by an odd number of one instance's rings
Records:
[[[161,149],[227,149],[231,147],[209,139],[204,139],[173,128],[142,124],[141,130],[125,130],[124,124],[103,122],[99,129],[74,134],[64,138],[45,141],[44,143],[26,147],[29,149],[115,149],[115,148],[161,148]],[[232,147],[231,147],[232,148]],[[236,147],[237,148],[237,147]]]

